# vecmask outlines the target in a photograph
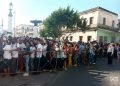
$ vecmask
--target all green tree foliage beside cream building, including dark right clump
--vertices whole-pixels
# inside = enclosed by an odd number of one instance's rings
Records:
[[[40,35],[55,38],[59,38],[62,35],[62,28],[66,28],[66,30],[81,28],[82,31],[85,31],[87,25],[83,18],[80,19],[78,12],[74,11],[69,6],[55,10],[45,19],[43,24],[45,28],[40,32]]]

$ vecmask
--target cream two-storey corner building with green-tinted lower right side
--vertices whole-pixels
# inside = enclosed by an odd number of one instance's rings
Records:
[[[73,33],[67,33],[66,36],[71,34],[68,37],[69,41],[120,41],[120,32],[118,30],[118,14],[102,7],[96,7],[80,12],[80,17],[86,19],[87,25],[89,25],[91,29],[85,32],[79,30]]]

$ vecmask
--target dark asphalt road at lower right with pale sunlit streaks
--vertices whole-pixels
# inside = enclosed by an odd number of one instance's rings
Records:
[[[120,63],[108,65],[107,58],[98,58],[93,68],[81,65],[61,73],[51,86],[120,86]]]

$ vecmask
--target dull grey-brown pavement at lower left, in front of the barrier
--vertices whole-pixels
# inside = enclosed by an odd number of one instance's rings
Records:
[[[61,72],[43,72],[28,77],[23,77],[22,75],[6,78],[0,77],[0,86],[50,86],[60,73]]]

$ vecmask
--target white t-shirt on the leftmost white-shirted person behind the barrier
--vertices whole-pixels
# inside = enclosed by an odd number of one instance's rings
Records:
[[[4,59],[12,59],[11,52],[9,51],[12,50],[11,45],[5,45],[3,50],[4,50],[4,54],[3,54]]]

